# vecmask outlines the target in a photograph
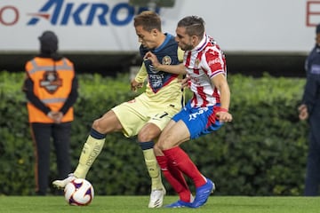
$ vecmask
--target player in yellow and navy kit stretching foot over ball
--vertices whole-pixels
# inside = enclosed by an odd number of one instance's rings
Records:
[[[183,60],[174,36],[162,33],[161,20],[155,12],[141,12],[134,18],[134,28],[139,38],[141,58],[151,51],[165,65],[177,65]],[[165,125],[178,113],[183,103],[183,91],[175,75],[156,70],[151,61],[144,60],[139,73],[132,80],[132,90],[140,88],[146,79],[146,91],[128,102],[115,106],[95,120],[74,173],[53,185],[64,188],[76,177],[85,178],[92,163],[100,154],[106,135],[123,131],[125,137],[138,136],[140,147],[151,177],[151,194],[148,208],[163,205],[165,188],[156,162],[153,146]]]

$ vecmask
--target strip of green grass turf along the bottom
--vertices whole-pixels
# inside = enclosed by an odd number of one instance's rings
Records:
[[[177,201],[166,196],[164,204]],[[318,213],[320,197],[211,196],[199,209],[148,209],[148,196],[96,196],[85,207],[69,206],[62,196],[0,196],[1,213],[83,213],[83,212],[199,212],[199,213]]]

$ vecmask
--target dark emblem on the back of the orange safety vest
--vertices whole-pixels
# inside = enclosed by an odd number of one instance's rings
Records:
[[[59,78],[57,71],[45,71],[44,78],[40,80],[40,86],[52,94],[62,86],[62,80]]]

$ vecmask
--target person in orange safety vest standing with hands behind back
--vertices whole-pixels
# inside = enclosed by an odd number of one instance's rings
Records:
[[[58,37],[52,31],[44,31],[39,41],[40,54],[25,67],[23,91],[28,99],[28,122],[35,147],[36,194],[45,195],[51,138],[59,177],[66,177],[71,170],[69,142],[78,94],[74,65],[58,53]]]

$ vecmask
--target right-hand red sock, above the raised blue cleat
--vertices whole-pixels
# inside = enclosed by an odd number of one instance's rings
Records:
[[[163,152],[168,158],[168,164],[172,163],[172,165],[178,167],[180,171],[193,180],[196,187],[206,183],[204,176],[196,168],[195,163],[191,161],[188,154],[186,154],[179,146],[164,150]]]

